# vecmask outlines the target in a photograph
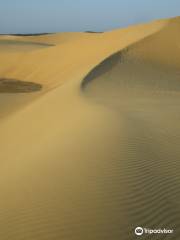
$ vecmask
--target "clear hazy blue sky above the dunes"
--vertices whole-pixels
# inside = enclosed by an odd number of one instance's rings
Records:
[[[180,0],[0,0],[0,33],[107,31],[180,15]]]

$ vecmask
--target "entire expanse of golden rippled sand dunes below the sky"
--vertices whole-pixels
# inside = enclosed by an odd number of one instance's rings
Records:
[[[179,239],[179,26],[0,36],[0,239]]]

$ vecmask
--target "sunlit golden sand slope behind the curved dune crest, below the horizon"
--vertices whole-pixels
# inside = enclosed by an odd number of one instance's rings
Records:
[[[19,50],[14,45],[10,51],[0,51],[0,77],[42,85],[39,93],[21,95],[0,95],[0,116],[7,116],[39,97],[50,89],[72,79],[82,79],[87,72],[108,55],[159,31],[168,20],[156,24],[132,26],[103,34],[60,33],[40,36],[0,36],[0,40],[19,42]],[[119,40],[121,39],[121,41]],[[46,48],[32,49],[21,42],[54,44]],[[25,51],[27,50],[27,51]],[[88,56],[88,57],[87,57]],[[75,83],[79,88],[80,83]]]

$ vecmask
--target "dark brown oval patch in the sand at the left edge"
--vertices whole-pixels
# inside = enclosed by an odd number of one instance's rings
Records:
[[[0,78],[0,93],[29,93],[42,89],[42,85],[17,79]]]

